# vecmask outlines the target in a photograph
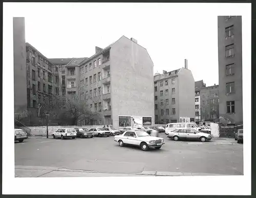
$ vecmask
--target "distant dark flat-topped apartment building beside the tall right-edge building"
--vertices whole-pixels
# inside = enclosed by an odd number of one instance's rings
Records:
[[[219,86],[203,87],[200,90],[201,120],[219,121]]]

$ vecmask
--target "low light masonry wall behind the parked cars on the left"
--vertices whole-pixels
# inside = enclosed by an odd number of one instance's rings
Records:
[[[102,128],[103,125],[91,125],[91,126],[48,126],[48,135],[51,136],[53,132],[57,131],[60,128],[87,128],[91,129],[93,127],[99,127]],[[46,126],[40,126],[40,127],[28,127],[30,128],[30,134],[35,136],[46,136],[47,133],[47,127]]]

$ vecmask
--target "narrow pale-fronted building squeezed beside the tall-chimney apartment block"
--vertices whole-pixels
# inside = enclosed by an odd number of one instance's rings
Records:
[[[201,121],[201,97],[200,91],[201,88],[206,87],[206,84],[201,81],[195,82],[195,109],[196,109],[196,123],[200,123]]]

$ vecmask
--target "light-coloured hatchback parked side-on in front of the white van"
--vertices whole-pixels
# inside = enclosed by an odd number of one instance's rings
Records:
[[[205,142],[211,140],[211,135],[194,129],[176,129],[168,133],[168,138],[177,140],[200,140]]]

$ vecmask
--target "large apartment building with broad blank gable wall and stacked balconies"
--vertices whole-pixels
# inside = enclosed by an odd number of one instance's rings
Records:
[[[79,94],[92,112],[88,125],[154,123],[153,62],[134,38],[122,36],[111,45],[96,47],[95,55],[79,68]]]

